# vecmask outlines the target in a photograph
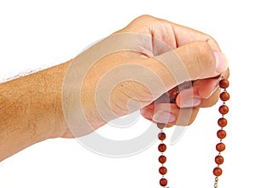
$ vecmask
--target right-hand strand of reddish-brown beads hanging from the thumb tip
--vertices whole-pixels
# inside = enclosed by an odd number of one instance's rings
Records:
[[[219,87],[223,88],[224,91],[219,94],[219,99],[223,101],[223,104],[219,106],[218,111],[222,115],[221,118],[218,119],[218,126],[220,129],[217,132],[217,136],[219,139],[219,143],[216,145],[216,150],[218,151],[218,156],[215,157],[215,163],[217,167],[213,169],[213,174],[215,175],[214,188],[218,188],[218,176],[222,174],[222,168],[219,166],[224,163],[224,157],[221,156],[221,152],[225,150],[225,145],[222,140],[226,137],[226,132],[224,131],[224,127],[228,124],[224,115],[229,112],[229,107],[225,104],[227,100],[230,100],[230,94],[227,92],[226,88],[230,86],[230,83],[224,77],[221,77],[219,81]]]

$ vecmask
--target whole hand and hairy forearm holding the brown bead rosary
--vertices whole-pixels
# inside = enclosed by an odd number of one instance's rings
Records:
[[[217,101],[227,66],[212,37],[143,15],[71,61],[0,84],[0,161],[140,109],[150,121],[189,124]]]

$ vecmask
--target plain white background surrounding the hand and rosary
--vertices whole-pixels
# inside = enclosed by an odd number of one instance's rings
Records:
[[[207,32],[230,60],[230,124],[219,187],[254,187],[254,12],[249,0],[1,1],[0,78],[70,60],[141,14]],[[170,186],[213,187],[217,119],[217,105],[202,109],[183,138],[168,146]],[[159,187],[158,156],[157,144],[133,157],[108,158],[76,140],[46,140],[0,163],[0,187]]]

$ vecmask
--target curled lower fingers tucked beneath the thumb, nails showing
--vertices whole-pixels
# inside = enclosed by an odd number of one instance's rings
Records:
[[[152,122],[167,123],[167,127],[176,125],[189,125],[194,122],[200,107],[210,107],[218,102],[220,88],[218,78],[199,80],[193,83],[193,88],[184,88],[174,101],[176,104],[166,103],[166,95],[172,99],[172,93],[177,90],[173,88],[168,93],[163,94],[158,100],[145,106],[141,113],[143,117]],[[204,85],[208,83],[207,85]],[[211,86],[211,83],[214,87]],[[215,88],[215,84],[217,87]],[[186,84],[187,85],[187,84]],[[205,89],[205,94],[211,94],[203,98],[200,90]]]

